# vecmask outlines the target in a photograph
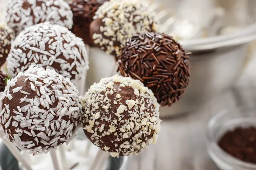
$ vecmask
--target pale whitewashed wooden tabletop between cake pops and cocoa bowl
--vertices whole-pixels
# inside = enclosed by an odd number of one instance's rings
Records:
[[[218,170],[209,158],[206,128],[224,108],[256,105],[256,57],[233,88],[206,102],[195,113],[163,120],[157,144],[132,156],[128,170]]]

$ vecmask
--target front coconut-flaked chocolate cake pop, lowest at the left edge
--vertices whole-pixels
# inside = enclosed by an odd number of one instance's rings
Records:
[[[33,66],[8,80],[0,107],[5,137],[30,153],[45,153],[73,139],[81,120],[70,79]]]

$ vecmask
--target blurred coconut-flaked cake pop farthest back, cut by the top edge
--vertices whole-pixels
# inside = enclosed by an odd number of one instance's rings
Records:
[[[9,0],[4,18],[16,34],[44,22],[69,29],[73,26],[72,11],[64,0]]]

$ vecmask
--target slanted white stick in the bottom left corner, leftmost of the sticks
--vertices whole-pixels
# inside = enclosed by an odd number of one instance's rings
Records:
[[[3,138],[3,136],[4,136],[4,132],[2,130],[0,130],[0,137]],[[21,162],[21,164],[23,165],[23,167],[26,168],[26,170],[32,170],[32,168],[30,167],[29,163],[20,154],[20,150],[18,150],[18,148],[14,144],[12,144],[12,142],[10,142],[10,141],[8,141],[6,139],[3,139],[3,143],[10,150],[12,155],[15,156],[17,161]]]

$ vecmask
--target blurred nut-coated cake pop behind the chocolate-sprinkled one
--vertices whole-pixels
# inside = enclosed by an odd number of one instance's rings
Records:
[[[157,21],[140,0],[106,2],[96,11],[90,25],[93,43],[113,55],[119,55],[127,38],[144,31],[157,31]]]

